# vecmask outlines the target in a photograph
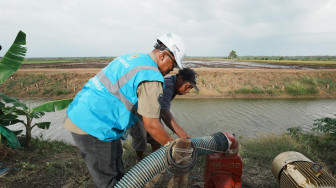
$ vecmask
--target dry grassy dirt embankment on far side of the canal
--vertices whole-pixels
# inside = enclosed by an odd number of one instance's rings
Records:
[[[26,99],[73,98],[100,69],[20,69],[0,92]],[[336,98],[336,70],[195,68],[199,92],[180,98]],[[176,74],[175,70],[172,74]]]

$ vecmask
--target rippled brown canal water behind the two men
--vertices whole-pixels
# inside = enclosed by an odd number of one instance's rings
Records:
[[[42,103],[33,101],[31,106]],[[336,99],[175,99],[171,111],[191,137],[228,131],[245,139],[278,135],[297,126],[309,131],[315,119],[334,117]],[[73,144],[71,134],[63,127],[65,116],[66,110],[46,113],[35,122],[50,121],[50,129],[34,128],[33,135]],[[9,128],[16,130],[23,125]]]

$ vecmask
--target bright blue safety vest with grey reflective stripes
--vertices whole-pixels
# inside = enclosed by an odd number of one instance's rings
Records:
[[[139,118],[140,83],[164,78],[148,54],[126,54],[91,78],[69,105],[70,120],[86,133],[104,141],[119,139]]]

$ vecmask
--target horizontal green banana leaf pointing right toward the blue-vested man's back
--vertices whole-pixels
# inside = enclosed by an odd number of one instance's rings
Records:
[[[33,108],[35,112],[55,112],[63,110],[69,106],[73,99],[56,100],[44,103],[40,106]]]

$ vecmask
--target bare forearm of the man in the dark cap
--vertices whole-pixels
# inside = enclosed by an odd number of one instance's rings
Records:
[[[175,121],[175,118],[170,110],[161,109],[160,118],[169,127],[170,130],[177,134],[177,136],[179,136],[180,138],[190,138],[189,135]]]

